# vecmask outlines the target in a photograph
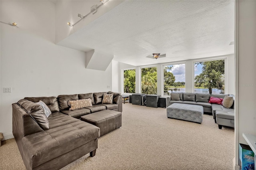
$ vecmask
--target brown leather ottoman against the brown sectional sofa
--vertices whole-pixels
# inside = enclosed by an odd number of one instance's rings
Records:
[[[100,136],[122,126],[122,113],[112,110],[104,110],[89,115],[81,116],[85,121],[100,128]]]

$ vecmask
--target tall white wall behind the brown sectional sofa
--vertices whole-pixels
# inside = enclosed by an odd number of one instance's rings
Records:
[[[0,1],[0,130],[12,138],[12,103],[24,97],[109,91],[106,71],[85,68],[85,53],[55,42],[55,4],[50,1]],[[47,9],[47,10],[46,10]],[[3,93],[12,87],[12,93]]]

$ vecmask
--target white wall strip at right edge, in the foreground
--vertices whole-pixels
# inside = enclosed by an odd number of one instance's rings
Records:
[[[242,133],[256,135],[256,1],[236,1],[236,164]]]

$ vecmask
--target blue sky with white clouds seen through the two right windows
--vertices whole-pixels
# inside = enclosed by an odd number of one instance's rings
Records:
[[[185,82],[185,64],[176,64],[170,65],[172,69],[170,70],[171,73],[175,76],[175,82]],[[202,73],[202,65],[198,64],[194,67],[195,76]]]

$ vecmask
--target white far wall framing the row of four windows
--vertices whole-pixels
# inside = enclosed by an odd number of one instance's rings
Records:
[[[211,59],[226,59],[226,79],[227,82],[225,82],[225,93],[226,94],[235,94],[235,66],[234,66],[234,54],[230,55],[222,55],[222,56],[216,56],[216,57],[207,57],[207,58],[200,58],[200,59],[193,59],[193,60],[184,60],[184,61],[176,61],[172,62],[172,64],[175,63],[185,63],[186,64],[186,70],[185,70],[185,78],[186,78],[186,92],[187,93],[194,93],[193,91],[193,73],[194,73],[194,61],[202,61],[202,60],[211,60]],[[162,83],[162,77],[163,77],[163,71],[162,71],[162,65],[165,65],[168,63],[160,63],[154,65],[154,67],[157,67],[157,94],[163,95],[163,83]],[[140,68],[141,67],[147,67],[149,65],[143,65],[143,66],[133,66],[128,65],[124,63],[120,63],[119,65],[119,74],[120,74],[120,81],[119,81],[119,87],[122,89],[122,69],[128,69],[128,68],[136,68],[136,93],[140,93]]]

